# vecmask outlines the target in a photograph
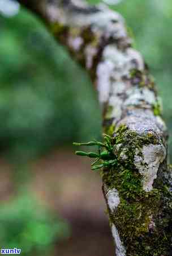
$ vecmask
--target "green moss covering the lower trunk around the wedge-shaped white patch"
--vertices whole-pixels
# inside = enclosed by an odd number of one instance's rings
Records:
[[[147,135],[139,135],[123,126],[115,133],[118,165],[103,170],[102,180],[110,224],[112,228],[115,225],[123,241],[124,253],[117,255],[172,255],[171,171],[163,161],[152,189],[147,191],[143,189],[143,175],[135,164],[138,152],[143,157],[143,145],[160,145],[158,139],[150,131]],[[118,205],[109,198],[114,188],[118,191],[118,196],[114,193]]]

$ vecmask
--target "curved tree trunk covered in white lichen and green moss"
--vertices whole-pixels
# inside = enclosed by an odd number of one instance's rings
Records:
[[[20,0],[91,75],[118,164],[102,170],[117,256],[167,256],[172,181],[167,132],[152,77],[121,15],[81,0]]]

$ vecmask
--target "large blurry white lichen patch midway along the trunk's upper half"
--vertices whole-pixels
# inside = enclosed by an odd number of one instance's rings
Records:
[[[143,60],[137,51],[127,49],[127,51],[122,52],[115,44],[106,46],[102,53],[102,62],[98,64],[96,74],[100,102],[108,101],[109,93],[111,92],[113,99],[109,99],[109,104],[113,101],[113,105],[110,104],[110,106],[113,106],[114,109],[117,108],[119,99],[116,97],[115,99],[118,101],[114,101],[114,94],[117,96],[117,94],[127,91],[128,85],[124,84],[122,79],[124,76],[129,77],[130,71],[134,68],[140,68],[140,70],[143,68]],[[143,93],[141,97],[147,96]],[[115,111],[114,116],[115,114],[121,117],[120,110],[119,112]]]

